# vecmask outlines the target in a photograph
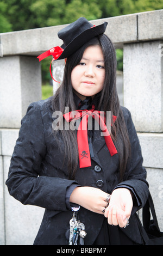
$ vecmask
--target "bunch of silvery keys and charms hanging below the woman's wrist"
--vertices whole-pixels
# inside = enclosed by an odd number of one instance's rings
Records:
[[[85,236],[85,225],[77,220],[76,212],[73,212],[72,219],[70,220],[70,236],[68,245],[84,245]]]

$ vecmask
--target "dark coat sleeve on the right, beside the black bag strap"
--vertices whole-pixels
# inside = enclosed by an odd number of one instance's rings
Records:
[[[148,182],[146,180],[146,169],[142,166],[143,157],[141,153],[141,147],[139,138],[131,118],[131,114],[127,108],[123,108],[124,120],[127,124],[131,155],[129,157],[126,172],[124,173],[123,181],[118,184],[118,187],[126,187],[131,190],[135,196],[136,211],[141,209],[148,198]]]

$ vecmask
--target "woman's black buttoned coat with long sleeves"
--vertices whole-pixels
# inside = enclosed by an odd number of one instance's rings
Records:
[[[28,107],[27,114],[22,119],[6,184],[10,195],[23,204],[46,209],[34,244],[68,244],[65,232],[69,227],[72,211],[67,208],[65,197],[67,188],[72,184],[101,188],[110,194],[117,187],[131,189],[136,202],[129,220],[130,224],[121,230],[131,240],[141,243],[135,211],[142,208],[147,200],[146,170],[142,167],[141,148],[130,112],[124,107],[122,111],[129,132],[131,159],[127,164],[124,181],[118,184],[118,154],[110,156],[100,130],[94,131],[93,134],[92,166],[79,168],[76,179],[69,180],[64,152],[58,148],[54,139],[51,98],[34,102]],[[101,170],[96,166],[101,167]],[[80,207],[79,218],[80,222],[85,224],[85,245],[92,245],[105,217]]]

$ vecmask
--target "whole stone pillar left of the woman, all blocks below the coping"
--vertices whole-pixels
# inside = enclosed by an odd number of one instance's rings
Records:
[[[1,57],[0,77],[0,245],[32,245],[44,209],[9,196],[5,180],[21,119],[31,102],[41,100],[41,66],[36,57]]]

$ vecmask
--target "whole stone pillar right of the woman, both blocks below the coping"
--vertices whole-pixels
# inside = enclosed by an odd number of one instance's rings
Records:
[[[124,106],[140,140],[143,166],[160,229],[163,230],[163,57],[162,41],[124,45]]]

